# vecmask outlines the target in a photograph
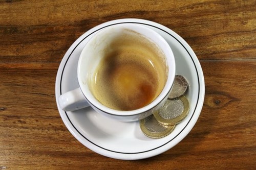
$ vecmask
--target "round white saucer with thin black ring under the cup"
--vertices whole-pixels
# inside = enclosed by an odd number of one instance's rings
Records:
[[[161,139],[146,137],[139,122],[123,123],[86,108],[74,112],[60,110],[60,94],[78,87],[77,62],[86,42],[97,31],[123,22],[137,23],[158,32],[169,43],[176,60],[176,75],[184,76],[189,84],[186,97],[190,103],[188,116],[175,130]],[[83,145],[101,155],[125,160],[136,160],[161,154],[179,143],[194,127],[204,102],[204,76],[197,56],[191,47],[172,30],[152,21],[118,19],[102,23],[80,36],[63,57],[56,78],[56,101],[60,116],[69,131]]]

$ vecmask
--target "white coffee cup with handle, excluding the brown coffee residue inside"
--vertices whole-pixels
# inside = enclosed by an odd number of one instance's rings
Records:
[[[159,47],[164,54],[167,78],[161,93],[150,104],[136,110],[120,111],[101,104],[93,95],[87,80],[89,78],[93,79],[92,76],[94,76],[94,72],[103,58],[103,55],[101,55],[102,51],[106,50],[106,46],[108,46],[109,42],[112,41],[114,36],[122,36],[123,31],[127,29],[134,31],[136,34],[139,33],[143,35]],[[118,25],[109,26],[95,33],[83,47],[77,67],[79,88],[61,94],[58,98],[58,103],[60,108],[64,111],[74,111],[91,106],[98,113],[102,113],[116,120],[123,122],[139,120],[153,114],[162,107],[172,89],[175,70],[175,58],[172,49],[165,39],[155,31],[136,23],[120,23]]]

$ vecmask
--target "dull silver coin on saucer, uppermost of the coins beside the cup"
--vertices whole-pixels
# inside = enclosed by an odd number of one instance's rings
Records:
[[[172,88],[172,91],[170,91],[170,94],[168,96],[169,99],[176,99],[179,98],[179,96],[185,94],[187,91],[188,83],[186,79],[183,76],[176,75],[174,79],[174,85]]]

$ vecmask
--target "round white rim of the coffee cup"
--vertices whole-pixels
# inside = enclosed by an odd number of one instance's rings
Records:
[[[92,41],[93,37],[97,36],[98,34],[103,34],[104,32],[107,32],[112,28],[118,28],[118,27],[119,28],[125,27],[126,29],[128,28],[128,29],[132,29],[132,30],[134,28],[142,29],[147,34],[154,35],[155,38],[159,39],[163,43],[162,46],[160,46],[159,44],[157,44],[157,45],[161,48],[162,51],[165,51],[164,56],[165,56],[166,64],[168,66],[168,75],[167,75],[167,80],[166,80],[166,83],[165,83],[162,91],[157,96],[157,98],[154,101],[152,101],[150,104],[148,104],[142,108],[135,109],[135,110],[129,110],[129,111],[115,110],[115,109],[111,109],[109,107],[104,106],[94,97],[92,92],[89,90],[89,87],[86,87],[86,85],[84,85],[81,75],[79,73],[82,69],[81,63],[82,63],[82,59],[84,58],[82,56],[86,56],[86,55],[84,55],[84,53],[86,53],[87,44],[89,44],[90,41]],[[145,34],[143,34],[143,35],[146,38],[151,39],[147,35],[145,35]],[[166,42],[166,40],[161,35],[159,35],[157,32],[155,32],[154,30],[152,30],[150,28],[138,25],[136,23],[121,23],[120,25],[113,25],[113,26],[108,26],[106,28],[103,28],[102,30],[99,30],[93,37],[87,42],[86,45],[84,45],[82,52],[80,53],[79,60],[78,60],[78,66],[77,66],[77,78],[78,78],[79,87],[84,95],[84,98],[86,98],[87,102],[92,107],[94,107],[106,114],[118,115],[118,116],[132,116],[132,115],[137,115],[137,114],[141,114],[141,113],[150,111],[151,109],[156,107],[159,103],[161,103],[166,98],[166,96],[169,94],[170,90],[172,89],[172,86],[174,83],[176,64],[175,64],[175,58],[174,58],[172,48],[169,46],[169,44]],[[155,40],[152,40],[152,41],[155,42]],[[170,70],[172,70],[172,71],[170,71]],[[87,94],[85,94],[85,93],[87,93]]]

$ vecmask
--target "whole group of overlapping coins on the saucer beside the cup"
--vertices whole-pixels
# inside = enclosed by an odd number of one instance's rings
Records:
[[[187,89],[185,78],[176,75],[168,100],[153,115],[140,120],[140,129],[147,137],[162,138],[169,135],[187,116],[189,102],[184,95]]]

